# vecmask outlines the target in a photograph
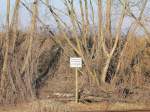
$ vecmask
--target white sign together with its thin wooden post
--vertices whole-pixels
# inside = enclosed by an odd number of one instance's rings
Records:
[[[75,102],[79,102],[79,92],[78,92],[78,68],[82,67],[82,59],[81,58],[70,58],[70,67],[75,68]]]

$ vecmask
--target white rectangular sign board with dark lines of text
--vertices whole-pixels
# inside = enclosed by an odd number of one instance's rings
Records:
[[[70,58],[70,67],[71,68],[81,68],[82,67],[82,59],[81,58]]]

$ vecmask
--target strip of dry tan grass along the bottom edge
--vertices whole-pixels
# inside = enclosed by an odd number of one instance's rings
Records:
[[[40,106],[40,107],[39,107]],[[92,104],[68,102],[67,104],[52,100],[40,100],[32,103],[0,107],[0,112],[79,112],[79,111],[127,111],[148,110],[149,104],[143,103],[109,103],[107,101]]]

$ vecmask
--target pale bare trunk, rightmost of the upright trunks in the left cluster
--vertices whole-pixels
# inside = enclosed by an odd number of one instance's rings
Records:
[[[35,93],[33,91],[33,88],[32,88],[32,74],[30,73],[30,67],[31,67],[31,62],[32,62],[32,44],[33,44],[33,39],[34,39],[34,36],[35,36],[35,31],[36,31],[36,28],[37,28],[37,15],[38,15],[38,0],[34,0],[33,2],[33,15],[32,15],[32,21],[31,21],[31,34],[29,36],[29,46],[28,46],[28,51],[27,51],[27,55],[26,55],[26,58],[24,60],[24,63],[23,63],[23,67],[22,67],[22,70],[21,70],[21,74],[24,73],[26,71],[26,80],[27,80],[27,87],[29,89],[29,92],[31,94],[31,97],[33,99],[35,99]]]

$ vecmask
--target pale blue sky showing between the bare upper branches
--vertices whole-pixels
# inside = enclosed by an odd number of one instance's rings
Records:
[[[10,0],[11,1],[11,14],[13,13],[13,7],[14,7],[14,3],[15,0]],[[26,5],[31,8],[31,4],[33,0],[22,0],[23,2],[26,3]],[[44,0],[43,0],[44,1]],[[94,12],[95,12],[95,20],[97,21],[97,0],[93,0],[93,6],[94,6]],[[106,0],[102,0],[103,1],[103,9],[105,9],[105,2]],[[117,1],[117,0],[116,0]],[[131,0],[130,0],[131,1]],[[133,0],[132,0],[133,1]],[[138,1],[138,0],[135,0]],[[59,10],[65,11],[64,5],[63,5],[63,0],[50,0],[50,3],[58,8]],[[75,8],[76,8],[76,13],[78,14],[78,17],[80,18],[80,10],[79,10],[79,0],[74,0],[75,3]],[[150,2],[147,5],[147,10],[149,10],[150,8]],[[112,8],[112,26],[116,26],[117,23],[117,18],[119,17],[118,13],[119,12],[119,8],[117,7],[117,5],[115,4]],[[138,15],[138,9],[136,7],[134,7],[133,12],[135,12],[136,15]],[[39,16],[42,19],[42,21],[44,21],[44,23],[50,25],[51,27],[55,28],[56,27],[56,23],[53,20],[53,18],[51,17],[48,9],[41,4],[40,2],[40,8],[39,8]],[[150,11],[146,11],[147,15],[150,15]],[[6,18],[6,0],[0,0],[0,27],[3,26],[3,24],[5,24],[5,18]],[[69,18],[62,15],[61,14],[61,18],[66,21],[69,24]],[[10,18],[11,19],[11,18]],[[89,17],[89,19],[91,20],[91,17]],[[103,18],[105,20],[105,18]],[[132,22],[132,19],[129,17],[126,17],[123,23],[123,29],[128,29],[128,27],[130,26]],[[27,27],[30,23],[30,13],[21,5],[20,8],[20,24],[21,27]]]

